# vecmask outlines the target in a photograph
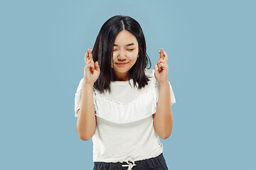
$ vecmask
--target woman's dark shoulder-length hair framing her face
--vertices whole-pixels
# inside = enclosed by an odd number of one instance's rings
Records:
[[[98,61],[100,66],[100,77],[93,86],[101,93],[105,93],[105,91],[111,92],[110,83],[111,81],[116,81],[111,62],[113,62],[114,40],[122,30],[128,30],[132,33],[139,43],[139,57],[133,67],[129,69],[128,78],[133,79],[134,87],[137,86],[138,89],[142,89],[149,81],[149,77],[146,77],[144,69],[146,69],[148,64],[148,68],[151,67],[151,61],[146,54],[146,41],[141,26],[129,16],[112,16],[100,28],[92,49],[93,61]]]

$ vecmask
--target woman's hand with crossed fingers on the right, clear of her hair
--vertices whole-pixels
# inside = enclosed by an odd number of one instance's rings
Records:
[[[160,59],[157,62],[157,65],[154,66],[154,69],[155,69],[154,76],[156,77],[156,80],[159,82],[159,84],[168,83],[169,82],[169,78],[168,78],[169,67],[167,64],[168,55],[166,54],[163,48],[161,48],[161,50],[159,51],[159,54],[160,54]]]

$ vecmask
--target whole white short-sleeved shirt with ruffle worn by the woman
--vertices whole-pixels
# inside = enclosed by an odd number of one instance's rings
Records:
[[[133,80],[112,81],[112,93],[93,89],[97,118],[93,142],[93,162],[127,162],[157,157],[164,150],[153,126],[153,114],[159,97],[154,69],[145,69],[150,81],[142,89]],[[83,78],[75,93],[75,116],[78,117]],[[170,84],[170,82],[169,82]],[[171,105],[176,103],[170,84]]]

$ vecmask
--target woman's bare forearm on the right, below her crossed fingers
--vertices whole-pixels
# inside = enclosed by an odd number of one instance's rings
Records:
[[[159,99],[154,116],[154,128],[162,139],[171,135],[173,116],[171,111],[171,96],[169,82],[159,84]]]

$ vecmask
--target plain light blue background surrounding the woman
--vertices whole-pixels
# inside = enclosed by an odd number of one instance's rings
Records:
[[[169,169],[256,169],[255,1],[1,1],[0,169],[92,169],[76,131],[84,55],[117,14],[136,19],[152,67],[169,55]]]

